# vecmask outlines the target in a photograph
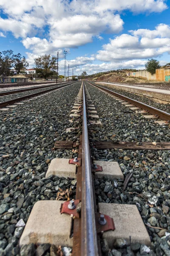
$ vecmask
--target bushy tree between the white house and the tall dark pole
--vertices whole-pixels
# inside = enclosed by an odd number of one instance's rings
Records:
[[[35,70],[47,79],[49,76],[56,74],[57,70],[57,57],[51,57],[50,54],[42,55],[39,58],[35,58]]]

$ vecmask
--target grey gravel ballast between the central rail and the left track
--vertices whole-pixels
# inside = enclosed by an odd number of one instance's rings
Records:
[[[77,141],[79,137],[79,127],[71,133],[65,129],[75,125],[68,119],[80,85],[77,82],[0,112],[0,256],[19,255],[18,241],[36,201],[56,200],[65,189],[70,199],[75,198],[76,180],[45,178],[45,173],[53,158],[78,156],[76,150],[54,151],[53,147],[56,140]],[[50,255],[52,249],[47,247],[43,255]],[[30,245],[20,253],[34,255],[35,251]]]

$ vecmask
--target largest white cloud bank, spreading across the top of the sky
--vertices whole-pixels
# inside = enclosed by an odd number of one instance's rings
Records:
[[[102,39],[100,33],[117,33],[122,30],[122,10],[132,12],[162,12],[167,8],[165,0],[1,0],[3,11],[9,19],[0,20],[0,29],[11,31],[16,38],[32,37],[37,30],[44,32],[48,26],[48,44],[79,47],[93,40]],[[20,26],[20,28],[18,26]],[[68,40],[69,38],[69,40]],[[70,41],[70,42],[69,42]]]

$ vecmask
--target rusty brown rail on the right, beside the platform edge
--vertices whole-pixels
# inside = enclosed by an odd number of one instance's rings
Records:
[[[129,97],[127,97],[127,96],[124,96],[124,95],[122,95],[122,94],[115,93],[115,92],[113,92],[112,90],[103,88],[103,87],[101,87],[101,86],[99,86],[99,85],[92,84],[92,83],[90,83],[90,82],[88,82],[88,83],[91,84],[91,85],[93,85],[93,86],[95,86],[95,87],[97,87],[97,88],[99,88],[99,89],[101,89],[101,90],[104,90],[104,91],[106,91],[106,92],[108,92],[108,93],[111,93],[111,94],[113,94],[113,95],[115,95],[115,96],[118,96],[119,98],[121,98],[121,99],[123,99],[123,100],[125,100],[125,101],[128,101],[128,102],[132,103],[133,105],[136,105],[136,107],[142,108],[142,109],[144,109],[144,110],[150,112],[150,113],[153,114],[153,115],[159,116],[160,119],[163,119],[163,120],[165,120],[165,121],[169,121],[169,120],[170,120],[170,113],[167,113],[167,112],[165,112],[165,111],[162,111],[162,110],[160,110],[160,109],[158,109],[158,108],[151,107],[150,105],[147,105],[147,104],[145,104],[145,103],[139,102],[139,101],[137,101],[137,100],[135,100],[135,99],[131,99],[131,98],[129,98]]]

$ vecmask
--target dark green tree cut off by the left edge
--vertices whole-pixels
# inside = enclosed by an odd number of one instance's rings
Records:
[[[13,67],[13,51],[0,52],[0,76],[9,76]]]

